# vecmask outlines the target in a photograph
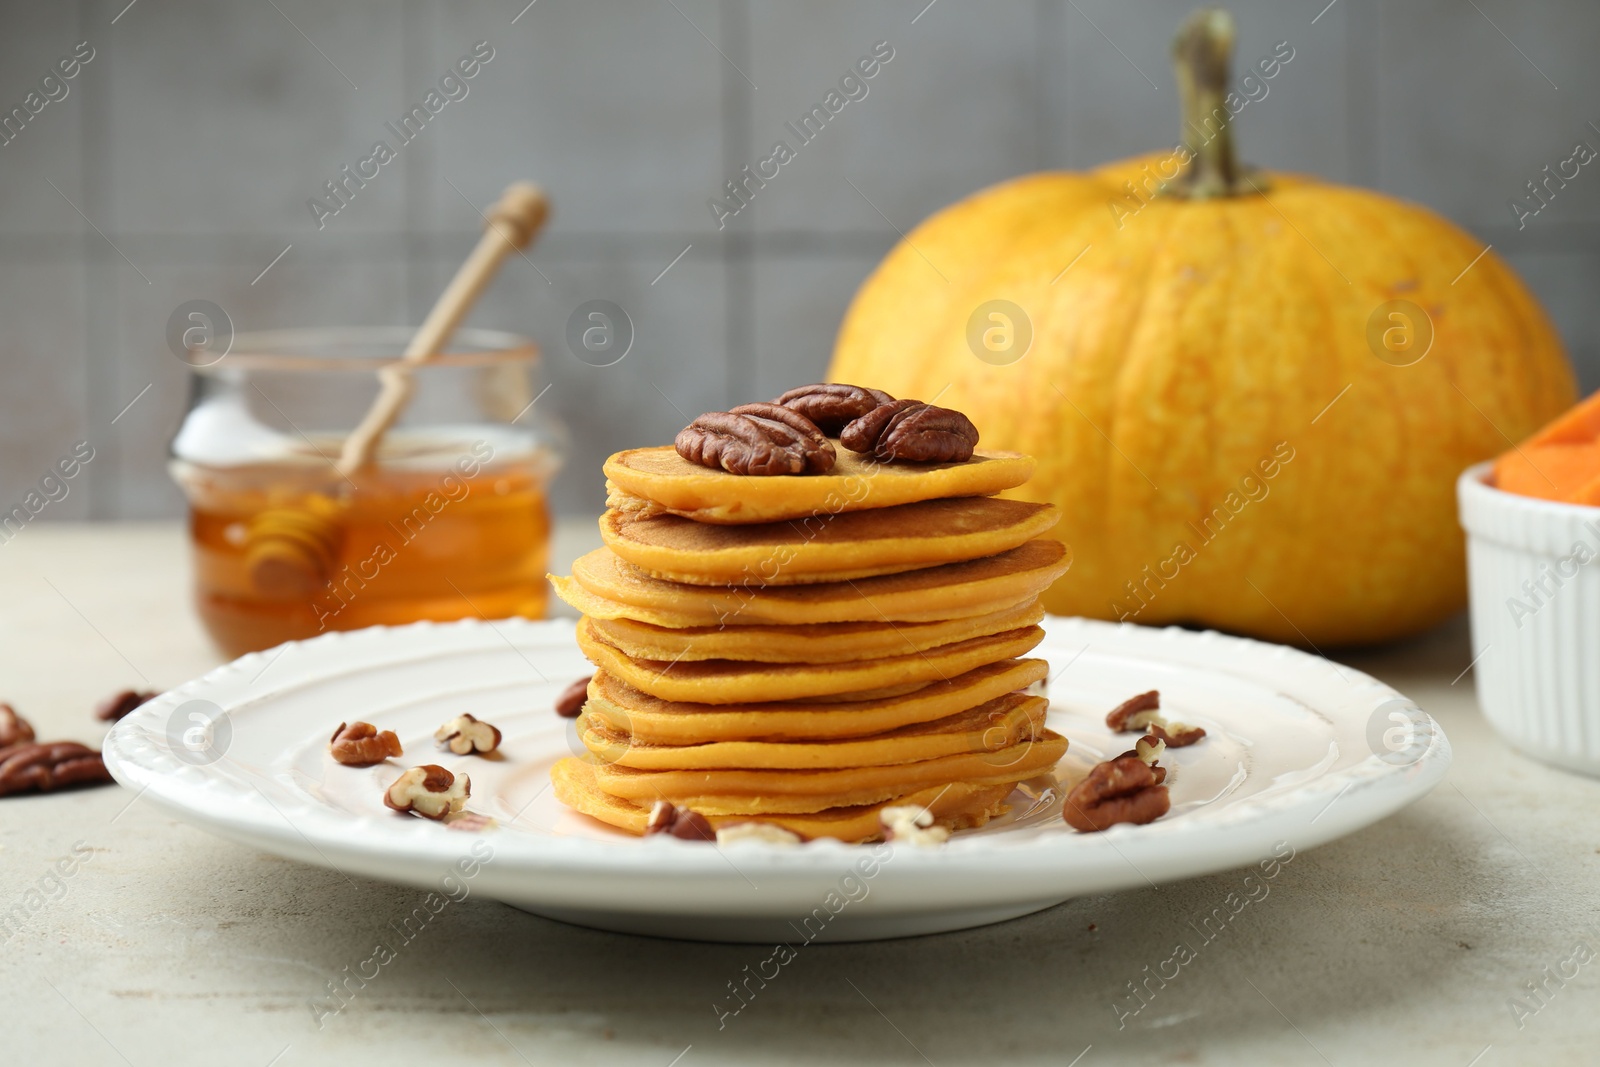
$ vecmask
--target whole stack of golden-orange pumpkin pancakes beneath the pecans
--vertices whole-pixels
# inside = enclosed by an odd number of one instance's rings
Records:
[[[656,801],[714,827],[882,837],[878,809],[947,829],[1006,811],[1067,749],[1027,693],[1038,595],[1069,565],[1056,509],[994,496],[1034,461],[883,464],[750,478],[672,448],[606,461],[603,549],[555,577],[598,667],[587,757],[555,795],[643,833]]]

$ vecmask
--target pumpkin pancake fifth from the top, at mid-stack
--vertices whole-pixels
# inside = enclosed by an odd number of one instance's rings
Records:
[[[651,696],[696,704],[798,701],[840,694],[877,694],[894,691],[899,686],[915,688],[939,678],[954,678],[984,664],[1022,656],[1042,640],[1045,640],[1045,632],[1037,625],[1029,625],[990,637],[939,645],[925,653],[846,664],[760,664],[736,659],[672,662],[630,659],[614,645],[597,637],[589,619],[578,622],[578,646],[589,657],[589,662]]]

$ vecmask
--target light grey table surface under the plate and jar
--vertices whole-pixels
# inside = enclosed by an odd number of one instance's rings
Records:
[[[557,566],[592,531],[563,525]],[[42,736],[98,742],[91,707],[107,693],[218,662],[187,581],[178,525],[29,526],[0,545],[0,699]],[[1462,621],[1342,657],[1443,723],[1450,777],[1299,853],[1125,1029],[1126,984],[1197,942],[1190,918],[1242,872],[810,947],[722,1029],[714,1003],[765,949],[594,933],[469,897],[318,1027],[326,982],[422,891],[352,886],[102,787],[0,800],[0,921],[18,920],[0,928],[0,1061],[1600,1062],[1600,960],[1579,953],[1590,963],[1560,979],[1579,944],[1600,950],[1600,782],[1507,750],[1472,675],[1454,681],[1469,659]]]

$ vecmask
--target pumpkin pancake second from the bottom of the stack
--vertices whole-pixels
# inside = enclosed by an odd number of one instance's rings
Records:
[[[704,816],[803,814],[829,808],[878,805],[949,782],[970,785],[1016,784],[1053,768],[1067,752],[1067,739],[1040,728],[994,752],[824,771],[635,771],[594,763],[595,785],[635,805],[670,800]]]

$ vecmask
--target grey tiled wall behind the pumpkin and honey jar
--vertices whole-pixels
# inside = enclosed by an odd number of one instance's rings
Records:
[[[96,459],[43,518],[179,514],[165,448],[186,371],[163,341],[179,302],[216,301],[242,330],[414,323],[470,248],[474,205],[533,178],[554,197],[549,230],[472,323],[541,342],[541,406],[571,429],[557,506],[595,509],[608,451],[819,376],[896,230],[1013,174],[1170,144],[1168,42],[1189,6],[0,6],[5,110],[78,42],[94,50],[66,98],[0,146],[0,504],[88,438]],[[1520,227],[1506,205],[1574,141],[1600,147],[1600,8],[1232,8],[1242,61],[1294,48],[1242,117],[1245,154],[1418,200],[1493,242],[1546,301],[1584,386],[1600,387],[1600,173],[1586,168]],[[480,40],[494,54],[467,96],[318,227],[307,198],[392,139],[386,123]],[[894,54],[866,96],[800,142],[786,123],[877,42]],[[778,139],[795,158],[718,226],[707,200]],[[566,350],[566,318],[590,299],[634,320],[616,366]]]

